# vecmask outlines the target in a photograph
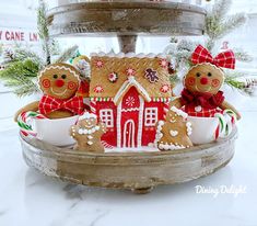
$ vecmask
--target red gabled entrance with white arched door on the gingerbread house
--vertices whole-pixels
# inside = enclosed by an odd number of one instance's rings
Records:
[[[141,143],[142,128],[139,127],[140,116],[140,95],[135,87],[130,88],[121,102],[120,118],[120,145],[121,147],[133,148]],[[141,131],[141,133],[140,133]]]

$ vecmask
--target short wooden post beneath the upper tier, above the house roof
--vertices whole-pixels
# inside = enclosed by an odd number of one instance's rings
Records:
[[[118,35],[119,48],[120,52],[136,53],[138,35]]]

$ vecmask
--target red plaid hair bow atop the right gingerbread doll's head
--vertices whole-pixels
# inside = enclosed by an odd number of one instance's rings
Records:
[[[191,55],[192,64],[210,63],[217,67],[235,69],[235,55],[232,50],[220,53],[213,58],[209,50],[199,45]]]

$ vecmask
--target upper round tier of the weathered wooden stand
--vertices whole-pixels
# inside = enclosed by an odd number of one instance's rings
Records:
[[[206,10],[176,2],[84,2],[48,12],[51,36],[202,35]]]

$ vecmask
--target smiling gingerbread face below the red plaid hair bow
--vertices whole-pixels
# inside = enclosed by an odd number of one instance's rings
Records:
[[[217,94],[223,82],[223,71],[208,63],[192,67],[184,79],[184,86],[190,92],[209,94]]]

